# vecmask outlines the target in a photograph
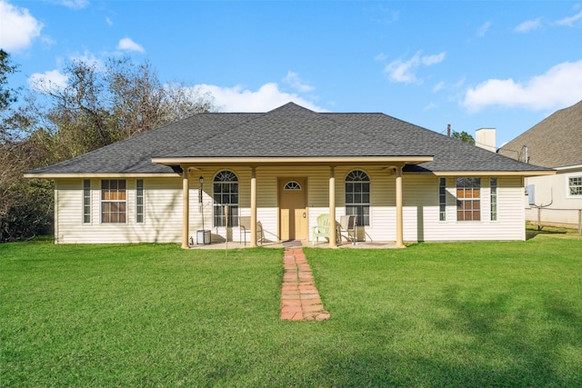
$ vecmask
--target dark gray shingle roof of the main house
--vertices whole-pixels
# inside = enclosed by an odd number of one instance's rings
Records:
[[[386,114],[196,114],[29,174],[170,173],[152,158],[434,156],[407,171],[545,171]]]

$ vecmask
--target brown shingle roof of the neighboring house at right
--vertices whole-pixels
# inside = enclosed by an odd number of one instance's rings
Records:
[[[582,164],[582,101],[551,114],[499,149],[499,154],[546,167]]]

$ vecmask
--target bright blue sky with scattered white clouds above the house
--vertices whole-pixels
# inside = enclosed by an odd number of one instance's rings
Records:
[[[0,0],[11,82],[148,60],[222,112],[383,112],[497,146],[582,100],[582,2]]]

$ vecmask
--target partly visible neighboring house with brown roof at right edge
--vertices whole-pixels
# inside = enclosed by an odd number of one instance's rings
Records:
[[[557,111],[499,149],[499,154],[551,167],[556,175],[528,177],[526,217],[577,226],[582,209],[582,101]]]

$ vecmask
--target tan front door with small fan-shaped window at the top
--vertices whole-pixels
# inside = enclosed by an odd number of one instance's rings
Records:
[[[307,239],[306,178],[279,178],[279,230],[281,239]]]

